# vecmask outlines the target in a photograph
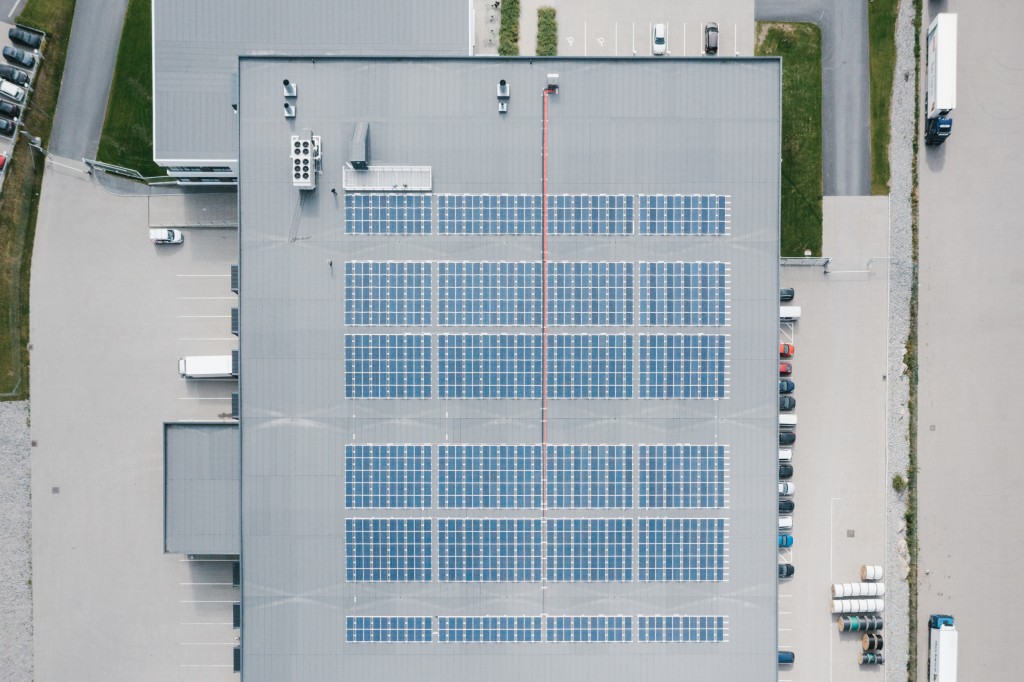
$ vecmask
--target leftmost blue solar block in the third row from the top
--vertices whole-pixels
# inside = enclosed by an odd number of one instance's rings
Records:
[[[430,335],[346,334],[345,397],[430,397]]]

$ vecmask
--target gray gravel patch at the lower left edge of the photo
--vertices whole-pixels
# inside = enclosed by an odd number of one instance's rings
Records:
[[[0,402],[0,679],[32,680],[29,403]]]

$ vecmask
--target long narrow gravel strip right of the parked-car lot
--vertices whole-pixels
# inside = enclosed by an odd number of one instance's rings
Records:
[[[907,410],[910,384],[905,364],[910,331],[913,275],[913,140],[918,134],[914,96],[913,0],[901,0],[896,18],[896,77],[893,79],[890,163],[889,275],[889,478],[906,475],[910,464]],[[909,554],[906,546],[906,494],[887,486],[886,537],[886,682],[907,679],[909,643]]]

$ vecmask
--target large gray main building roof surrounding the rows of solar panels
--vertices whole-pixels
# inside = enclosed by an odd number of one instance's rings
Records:
[[[680,670],[701,680],[776,679],[780,72],[775,58],[241,59],[245,679],[621,682],[676,679]],[[436,493],[429,509],[346,510],[346,445],[542,440],[539,400],[437,397],[436,342],[431,398],[345,397],[346,334],[436,339],[481,331],[439,326],[436,315],[411,328],[346,326],[346,261],[539,261],[542,249],[537,236],[346,233],[342,172],[352,132],[370,123],[374,165],[429,166],[433,193],[539,194],[549,73],[560,75],[550,98],[551,194],[726,195],[731,222],[726,236],[548,239],[551,261],[723,261],[729,272],[729,324],[674,330],[728,336],[725,399],[548,402],[550,443],[725,444],[725,509],[634,502],[548,516],[632,519],[635,534],[646,517],[724,517],[727,580],[638,582],[634,571],[632,582],[615,583],[451,583],[436,574],[424,583],[348,582],[346,518],[436,523],[541,512],[439,509]],[[281,113],[283,78],[299,86],[295,119]],[[500,79],[511,86],[501,115]],[[316,190],[300,195],[286,150],[304,128],[322,136],[324,172]],[[645,332],[638,325],[558,329],[602,331]],[[436,527],[434,536],[436,568]],[[634,561],[637,554],[634,547]],[[726,616],[727,641],[345,641],[347,616],[675,613]]]

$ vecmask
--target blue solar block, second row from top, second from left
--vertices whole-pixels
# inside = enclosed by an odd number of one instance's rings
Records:
[[[541,325],[540,262],[437,264],[441,325]]]

